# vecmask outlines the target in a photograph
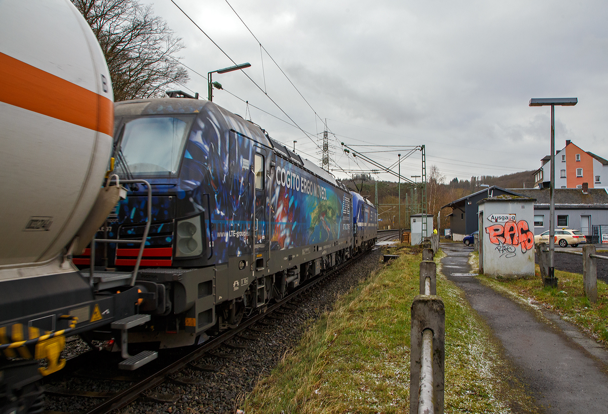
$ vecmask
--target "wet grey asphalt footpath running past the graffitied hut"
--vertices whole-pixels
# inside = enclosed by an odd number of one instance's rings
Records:
[[[544,311],[537,316],[482,285],[471,274],[472,247],[441,243],[441,271],[465,291],[471,306],[502,342],[519,381],[545,413],[608,413],[608,352],[572,324]]]

